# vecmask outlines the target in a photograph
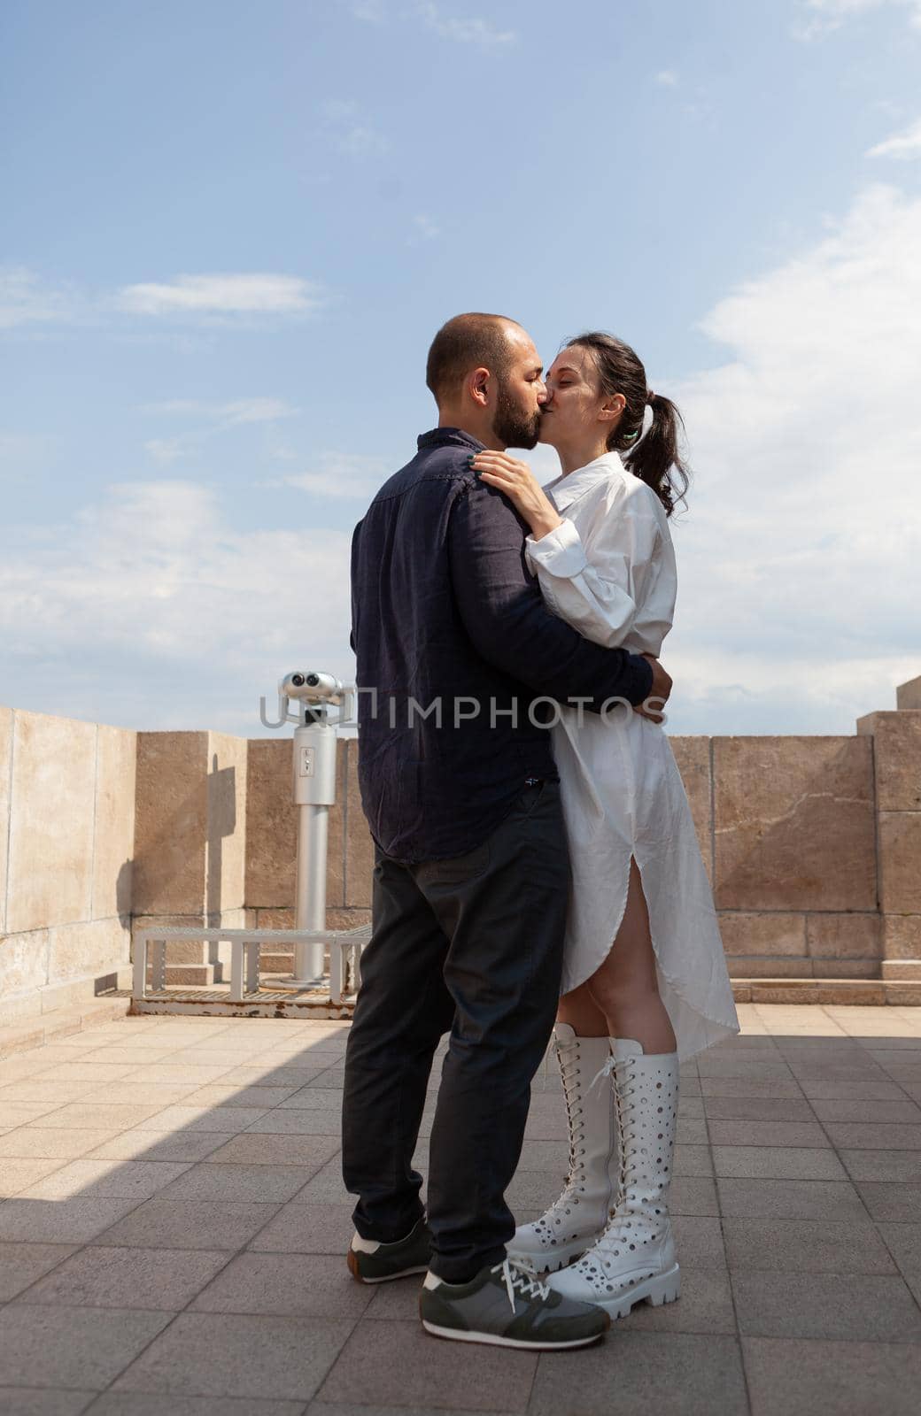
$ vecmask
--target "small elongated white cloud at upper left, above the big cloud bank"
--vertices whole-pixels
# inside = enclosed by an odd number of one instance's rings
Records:
[[[313,314],[320,285],[292,275],[179,275],[163,283],[128,285],[116,304],[132,314]]]

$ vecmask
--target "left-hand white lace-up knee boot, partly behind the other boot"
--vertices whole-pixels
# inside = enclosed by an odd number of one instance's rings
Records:
[[[560,1198],[540,1219],[519,1225],[507,1246],[514,1263],[536,1273],[560,1269],[591,1247],[618,1201],[611,1039],[581,1038],[558,1022],[554,1045],[570,1129],[570,1172]]]

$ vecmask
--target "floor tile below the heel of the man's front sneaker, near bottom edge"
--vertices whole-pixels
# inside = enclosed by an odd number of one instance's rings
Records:
[[[476,1357],[472,1357],[476,1351]],[[582,1354],[585,1355],[585,1354]],[[537,1366],[533,1352],[432,1342],[421,1323],[360,1323],[319,1392],[322,1402],[424,1409],[523,1412]]]

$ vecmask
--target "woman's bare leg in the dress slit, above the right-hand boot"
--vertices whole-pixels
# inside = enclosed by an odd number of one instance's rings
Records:
[[[614,946],[582,988],[588,990],[597,1010],[604,1014],[612,1038],[633,1038],[642,1045],[643,1052],[674,1052],[674,1031],[659,997],[649,912],[635,860],[631,860],[626,909]],[[581,988],[575,993],[581,993]],[[567,998],[574,995],[568,994]],[[580,1004],[580,1017],[588,1017],[588,1010],[585,1008],[582,1014],[581,1008]],[[563,1021],[568,1022],[570,1018]],[[582,1029],[575,1027],[575,1031]]]

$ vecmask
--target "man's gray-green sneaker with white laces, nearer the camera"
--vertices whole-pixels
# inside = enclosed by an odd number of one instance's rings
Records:
[[[598,1342],[611,1327],[602,1308],[554,1293],[510,1259],[480,1269],[469,1283],[429,1273],[419,1294],[422,1327],[456,1342],[524,1347],[547,1352]]]

